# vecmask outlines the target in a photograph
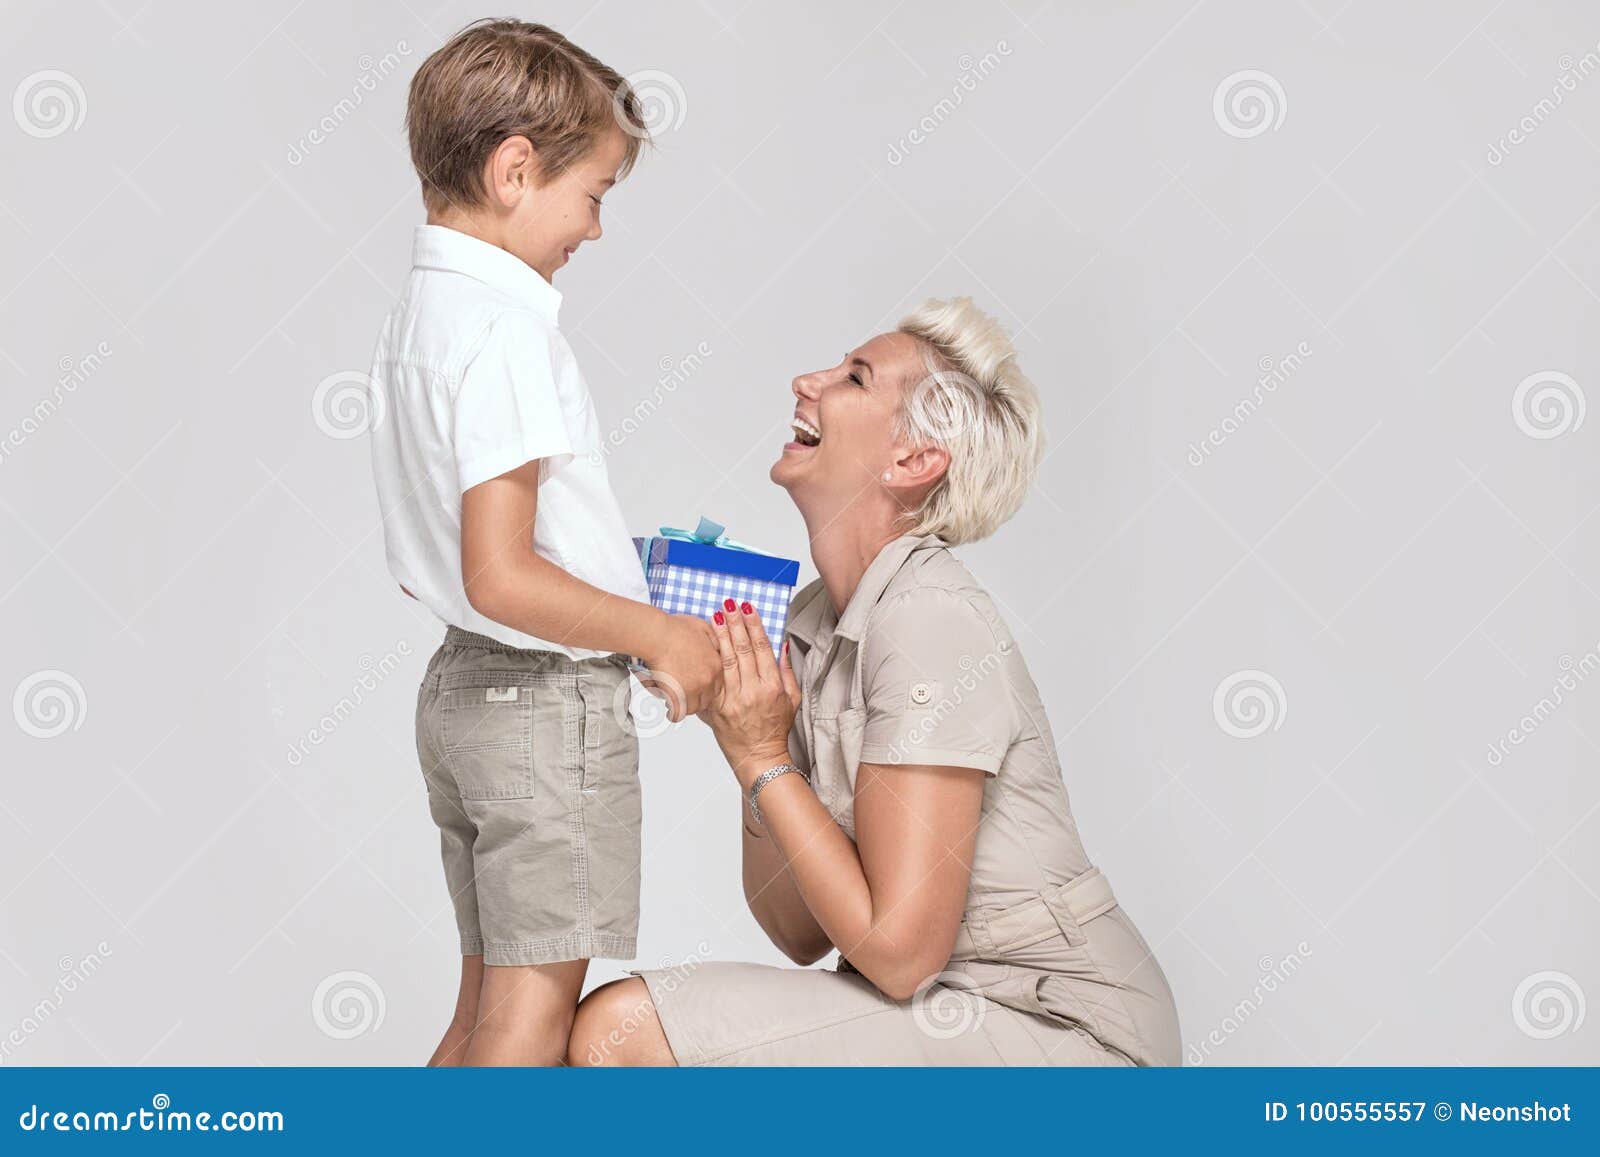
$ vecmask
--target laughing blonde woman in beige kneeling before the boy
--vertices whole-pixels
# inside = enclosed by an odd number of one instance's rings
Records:
[[[819,578],[774,661],[731,600],[702,714],[739,781],[744,893],[800,965],[643,970],[579,1007],[571,1064],[1178,1064],[1160,965],[1078,840],[1038,690],[949,546],[1040,459],[1005,331],[928,301],[794,381],[771,478]]]

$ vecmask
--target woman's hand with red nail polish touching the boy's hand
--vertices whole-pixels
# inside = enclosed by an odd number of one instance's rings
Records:
[[[782,661],[774,661],[766,627],[750,603],[725,600],[712,632],[722,653],[722,695],[699,717],[710,725],[739,786],[749,789],[762,771],[789,762],[800,683],[789,666],[789,643]]]

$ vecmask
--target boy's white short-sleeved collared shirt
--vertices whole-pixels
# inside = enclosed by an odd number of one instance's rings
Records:
[[[445,623],[574,659],[485,618],[461,579],[461,494],[533,459],[533,549],[584,583],[650,602],[600,453],[600,424],[571,347],[562,294],[506,250],[419,226],[411,274],[373,355],[373,477],[389,570]]]

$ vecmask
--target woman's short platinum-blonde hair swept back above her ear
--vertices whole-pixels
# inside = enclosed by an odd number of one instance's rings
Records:
[[[976,542],[1018,512],[1034,483],[1045,448],[1038,390],[1005,326],[971,298],[930,298],[898,330],[917,341],[925,373],[906,384],[894,434],[950,454],[922,509],[902,517],[917,534]]]

